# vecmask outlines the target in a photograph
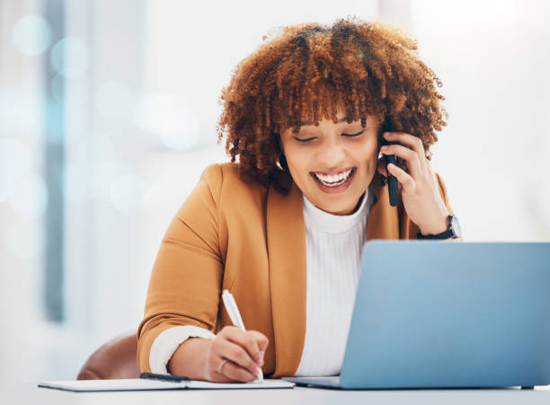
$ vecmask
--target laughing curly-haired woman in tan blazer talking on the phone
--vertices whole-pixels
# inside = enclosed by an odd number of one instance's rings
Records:
[[[381,23],[308,23],[237,66],[218,125],[232,163],[206,168],[164,236],[137,331],[142,371],[339,374],[363,243],[459,236],[429,163],[444,97],[416,48]],[[397,157],[387,172],[384,154]]]

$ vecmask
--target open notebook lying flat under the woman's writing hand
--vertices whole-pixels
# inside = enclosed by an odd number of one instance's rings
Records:
[[[124,380],[80,380],[80,381],[43,381],[42,388],[57,390],[91,392],[91,391],[145,391],[145,390],[219,390],[219,389],[253,389],[253,388],[293,388],[294,383],[282,380],[265,379],[253,383],[208,383],[206,381],[188,380],[168,382],[129,378]]]

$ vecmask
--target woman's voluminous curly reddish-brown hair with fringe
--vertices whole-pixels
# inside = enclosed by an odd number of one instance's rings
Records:
[[[298,132],[302,121],[336,123],[343,105],[349,123],[360,119],[365,128],[367,116],[374,116],[386,130],[418,136],[430,159],[434,131],[447,125],[448,113],[434,85],[441,82],[417,49],[404,31],[357,17],[332,26],[279,28],[236,66],[222,90],[217,142],[226,135],[226,153],[231,162],[238,157],[240,173],[286,192],[289,173],[276,166],[279,134],[285,128]]]

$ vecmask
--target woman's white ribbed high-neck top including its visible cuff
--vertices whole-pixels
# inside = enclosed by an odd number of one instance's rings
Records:
[[[373,202],[374,193],[368,189],[357,211],[350,216],[335,216],[315,207],[304,196],[306,341],[297,376],[340,374]],[[164,330],[149,353],[151,373],[166,374],[173,352],[191,337],[214,339],[216,335],[191,325]]]

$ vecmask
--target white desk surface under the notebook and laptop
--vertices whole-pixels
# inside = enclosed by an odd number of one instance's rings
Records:
[[[0,383],[0,403],[32,405],[177,404],[177,405],[287,405],[287,404],[550,404],[550,385],[535,390],[398,390],[340,391],[295,387],[275,390],[65,392],[36,385]]]

